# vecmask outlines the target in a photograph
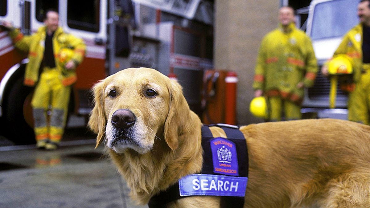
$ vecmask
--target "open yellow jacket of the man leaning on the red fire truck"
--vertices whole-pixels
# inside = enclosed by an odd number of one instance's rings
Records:
[[[26,66],[24,74],[24,84],[34,86],[38,81],[40,64],[44,56],[44,44],[46,38],[46,26],[40,27],[36,33],[30,36],[24,36],[19,30],[11,30],[9,36],[17,48],[23,51],[28,51],[29,62]],[[71,60],[76,66],[83,60],[86,46],[81,38],[77,38],[71,34],[63,32],[61,27],[55,31],[53,36],[53,50],[55,57],[55,66],[61,72],[62,84],[64,86],[71,85],[77,80],[75,70],[66,70],[64,64],[58,61],[58,54],[61,48],[71,48],[74,50]]]

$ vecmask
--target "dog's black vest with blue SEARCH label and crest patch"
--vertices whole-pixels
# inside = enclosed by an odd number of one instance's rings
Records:
[[[244,206],[248,181],[246,140],[238,127],[216,125],[225,131],[227,138],[214,138],[209,126],[202,126],[202,171],[181,178],[167,190],[153,196],[148,203],[149,208],[165,207],[168,202],[183,197],[202,195],[220,196],[223,208]]]

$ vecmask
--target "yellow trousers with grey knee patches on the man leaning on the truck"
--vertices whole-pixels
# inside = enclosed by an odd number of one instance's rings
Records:
[[[44,67],[31,101],[36,141],[60,142],[67,118],[70,92],[71,86],[65,87],[61,83],[59,70]]]

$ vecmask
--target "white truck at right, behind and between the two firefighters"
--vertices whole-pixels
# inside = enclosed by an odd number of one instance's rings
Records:
[[[313,0],[310,3],[306,33],[312,40],[319,72],[312,88],[306,89],[302,113],[315,113],[319,118],[347,119],[347,95],[337,91],[336,108],[329,109],[330,83],[321,66],[333,56],[344,34],[359,23],[354,0]]]

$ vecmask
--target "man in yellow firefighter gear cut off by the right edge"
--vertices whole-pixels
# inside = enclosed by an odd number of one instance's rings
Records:
[[[357,14],[360,23],[349,30],[334,56],[346,54],[353,60],[351,83],[340,83],[349,92],[348,120],[370,125],[370,0],[359,3]],[[327,64],[322,69],[328,74]]]

